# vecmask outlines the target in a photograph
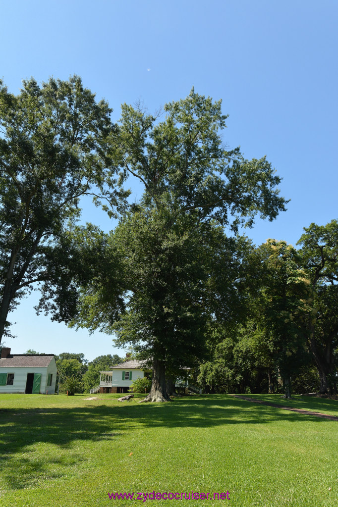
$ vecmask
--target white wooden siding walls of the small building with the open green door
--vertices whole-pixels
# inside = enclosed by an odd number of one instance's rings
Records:
[[[55,392],[56,383],[56,363],[55,359],[50,361],[48,367],[44,368],[1,368],[1,373],[14,373],[13,385],[0,385],[0,393],[24,393],[26,390],[27,373],[41,373],[40,393],[45,394],[48,390],[49,394]],[[52,385],[47,386],[48,374],[53,375]],[[56,389],[57,390],[57,389]]]

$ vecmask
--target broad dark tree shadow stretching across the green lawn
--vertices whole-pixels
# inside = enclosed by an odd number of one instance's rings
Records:
[[[81,403],[81,402],[80,402]],[[62,477],[66,468],[81,459],[72,449],[75,441],[112,441],[133,438],[140,427],[215,428],[228,424],[271,424],[277,421],[326,422],[315,416],[256,405],[222,395],[183,397],[173,403],[139,404],[125,402],[72,408],[0,410],[0,466],[10,488],[24,488],[44,479]],[[35,444],[51,444],[51,455],[35,457]],[[67,453],[67,449],[72,449]],[[24,453],[24,456],[22,454]],[[17,456],[18,455],[18,456]],[[40,456],[40,457],[39,457]],[[55,470],[54,465],[59,465]],[[20,470],[20,473],[17,470]]]

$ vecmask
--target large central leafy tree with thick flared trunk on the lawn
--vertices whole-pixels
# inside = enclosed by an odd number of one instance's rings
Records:
[[[167,366],[202,356],[210,319],[231,318],[241,307],[244,241],[227,237],[224,228],[252,226],[257,213],[273,220],[286,204],[265,157],[249,161],[239,148],[224,148],[221,101],[192,89],[164,111],[158,121],[122,106],[114,150],[119,169],[138,178],[144,193],[108,240],[122,263],[119,313],[113,284],[92,281],[82,285],[73,320],[114,331],[118,344],[131,343],[152,358],[151,401],[168,399]]]

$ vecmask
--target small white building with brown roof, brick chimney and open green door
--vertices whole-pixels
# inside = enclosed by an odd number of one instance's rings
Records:
[[[58,375],[54,354],[11,354],[0,358],[0,393],[54,394]]]

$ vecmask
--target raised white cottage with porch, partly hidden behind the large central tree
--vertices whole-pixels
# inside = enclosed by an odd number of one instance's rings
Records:
[[[99,392],[128,392],[133,380],[146,377],[150,372],[151,370],[136,359],[125,361],[125,363],[113,366],[110,371],[100,372]],[[98,389],[92,389],[90,392],[95,392],[95,390]]]

